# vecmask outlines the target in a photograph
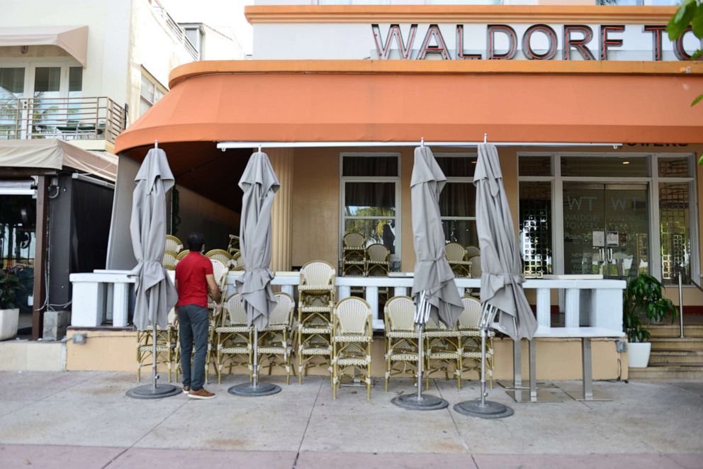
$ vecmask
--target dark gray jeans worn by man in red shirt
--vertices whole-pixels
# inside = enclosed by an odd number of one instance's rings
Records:
[[[208,352],[208,308],[198,305],[178,307],[178,320],[181,334],[181,370],[183,385],[192,390],[203,389],[205,384],[205,357]],[[196,354],[193,357],[191,370],[191,352],[193,341],[196,343]]]

